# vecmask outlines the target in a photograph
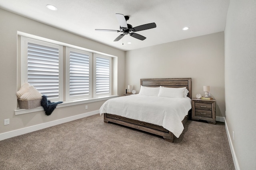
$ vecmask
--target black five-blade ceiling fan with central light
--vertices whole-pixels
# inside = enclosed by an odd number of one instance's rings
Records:
[[[144,40],[144,39],[146,39],[146,37],[144,37],[140,34],[134,33],[134,32],[156,27],[156,23],[154,23],[154,22],[147,23],[144,25],[139,25],[137,27],[132,27],[132,25],[126,23],[126,21],[129,20],[129,16],[124,16],[123,14],[116,14],[116,18],[120,24],[120,31],[112,30],[112,29],[95,29],[95,31],[122,32],[122,34],[119,35],[118,37],[116,37],[116,39],[114,39],[114,41],[119,41],[120,39],[122,39],[122,37],[124,37],[124,35],[127,35],[127,34],[130,34],[130,36],[132,36],[136,39]]]

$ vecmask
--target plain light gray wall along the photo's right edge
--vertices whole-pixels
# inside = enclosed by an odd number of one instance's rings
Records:
[[[256,1],[231,0],[225,29],[226,125],[241,170],[256,169]]]

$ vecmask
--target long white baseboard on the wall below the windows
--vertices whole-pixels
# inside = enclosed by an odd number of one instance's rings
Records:
[[[44,129],[44,128],[47,128],[47,127],[51,127],[51,126],[59,125],[59,124],[66,123],[66,122],[69,122],[69,121],[73,121],[73,120],[76,120],[76,119],[81,119],[81,118],[88,117],[88,116],[91,116],[91,115],[96,115],[96,114],[99,114],[99,113],[100,113],[99,110],[95,110],[95,111],[91,111],[91,112],[88,112],[88,113],[83,113],[83,114],[80,114],[80,115],[66,117],[66,118],[63,118],[63,119],[58,119],[58,120],[54,120],[54,121],[50,121],[50,122],[30,126],[30,127],[25,127],[25,128],[22,128],[22,129],[17,129],[17,130],[14,130],[14,131],[1,133],[0,134],[0,141],[2,141],[4,139],[11,138],[11,137],[15,137],[15,136],[23,135],[23,134],[26,134],[26,133],[30,133],[30,132],[33,132],[33,131],[38,131],[40,129]]]

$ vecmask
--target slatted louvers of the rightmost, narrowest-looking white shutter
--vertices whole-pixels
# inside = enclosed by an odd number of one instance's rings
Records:
[[[104,96],[111,94],[111,57],[96,55],[95,94]]]

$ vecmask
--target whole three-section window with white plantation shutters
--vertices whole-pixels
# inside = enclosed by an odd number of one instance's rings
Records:
[[[52,102],[111,95],[112,57],[73,47],[21,36],[21,85]]]

